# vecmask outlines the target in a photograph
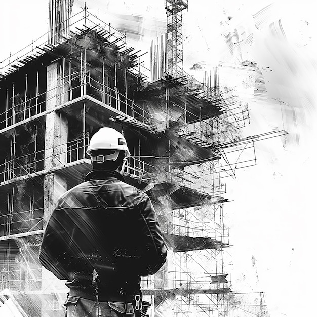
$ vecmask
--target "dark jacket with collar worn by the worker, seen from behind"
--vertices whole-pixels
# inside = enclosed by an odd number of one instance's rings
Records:
[[[70,295],[93,299],[98,290],[101,300],[139,293],[140,276],[157,272],[166,255],[149,197],[117,172],[93,170],[58,200],[39,259],[68,280]]]

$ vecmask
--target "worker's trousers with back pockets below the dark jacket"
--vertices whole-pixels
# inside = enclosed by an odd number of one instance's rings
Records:
[[[132,303],[97,302],[68,296],[65,317],[135,317]]]

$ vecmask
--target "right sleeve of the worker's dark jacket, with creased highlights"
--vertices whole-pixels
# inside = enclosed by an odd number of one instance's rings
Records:
[[[156,273],[165,263],[167,247],[163,240],[156,213],[148,196],[137,205],[139,228],[144,257],[141,263],[141,276]]]

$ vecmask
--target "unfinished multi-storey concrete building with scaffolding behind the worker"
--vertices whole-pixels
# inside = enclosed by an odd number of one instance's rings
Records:
[[[0,76],[1,303],[16,316],[63,315],[67,289],[39,264],[39,245],[58,197],[91,170],[90,137],[107,126],[127,139],[125,179],[150,196],[170,250],[142,280],[147,314],[227,315],[224,179],[254,165],[254,141],[270,135],[241,137],[248,109],[220,92],[217,69],[204,83],[183,71],[187,1],[165,2],[149,79],[124,34],[87,8],[71,16],[70,1],[50,3],[48,41]]]

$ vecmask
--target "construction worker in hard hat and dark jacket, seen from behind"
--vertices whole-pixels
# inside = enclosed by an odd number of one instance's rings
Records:
[[[108,127],[89,143],[93,170],[65,192],[44,232],[39,259],[67,279],[66,316],[147,316],[140,276],[157,272],[167,248],[149,197],[122,176],[130,156]]]

